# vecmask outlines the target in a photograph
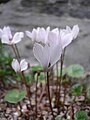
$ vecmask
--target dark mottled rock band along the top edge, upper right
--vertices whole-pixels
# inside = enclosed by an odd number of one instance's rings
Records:
[[[21,4],[28,11],[90,18],[90,0],[22,0]]]

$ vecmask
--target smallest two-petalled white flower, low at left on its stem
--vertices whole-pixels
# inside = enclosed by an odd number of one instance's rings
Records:
[[[22,59],[20,63],[17,59],[13,59],[12,68],[15,70],[15,72],[22,72],[28,68],[28,63],[25,59]]]

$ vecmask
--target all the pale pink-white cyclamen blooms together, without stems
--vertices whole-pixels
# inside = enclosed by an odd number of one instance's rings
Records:
[[[72,29],[69,26],[66,26],[66,29],[53,30],[50,30],[50,27],[46,29],[38,27],[32,32],[26,31],[26,35],[34,42],[33,54],[45,71],[60,59],[63,49],[77,37],[78,33],[78,25],[74,25]],[[12,46],[20,42],[23,37],[23,32],[16,32],[12,36],[10,27],[0,29],[2,43]],[[25,59],[21,61],[13,59],[12,68],[15,72],[21,72],[28,68],[28,63]]]

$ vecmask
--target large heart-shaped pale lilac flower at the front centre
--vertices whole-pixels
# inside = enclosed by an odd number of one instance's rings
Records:
[[[61,47],[59,44],[55,46],[49,46],[47,44],[42,46],[39,43],[35,43],[33,54],[44,67],[44,70],[47,71],[49,67],[52,67],[60,59]]]

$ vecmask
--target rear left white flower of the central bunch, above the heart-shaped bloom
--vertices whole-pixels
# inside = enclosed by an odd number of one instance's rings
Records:
[[[26,35],[33,41],[33,42],[41,42],[46,44],[48,32],[50,31],[50,27],[44,29],[43,27],[38,27],[37,29],[33,29],[32,32],[26,31]]]

